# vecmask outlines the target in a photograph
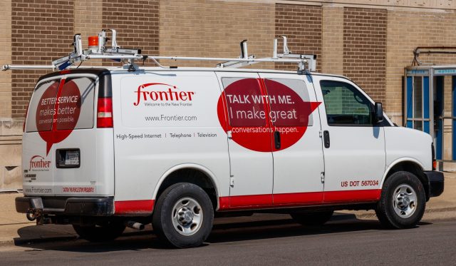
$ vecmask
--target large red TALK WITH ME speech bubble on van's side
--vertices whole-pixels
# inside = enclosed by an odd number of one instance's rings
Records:
[[[217,114],[224,131],[232,132],[234,142],[249,150],[270,152],[298,142],[318,105],[320,102],[303,101],[293,89],[277,81],[244,78],[224,89]],[[276,131],[281,134],[279,149],[272,141]]]

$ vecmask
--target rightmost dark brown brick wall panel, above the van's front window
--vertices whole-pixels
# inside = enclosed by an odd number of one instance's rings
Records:
[[[343,74],[384,102],[387,11],[344,8],[343,18]]]

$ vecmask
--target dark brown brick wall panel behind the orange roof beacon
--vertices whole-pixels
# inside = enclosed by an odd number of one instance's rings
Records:
[[[120,47],[140,48],[143,54],[158,55],[159,2],[103,0],[103,29],[117,31],[117,43]],[[110,62],[105,64],[119,65]]]

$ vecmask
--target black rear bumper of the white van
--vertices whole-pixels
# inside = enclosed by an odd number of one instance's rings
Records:
[[[110,216],[114,214],[114,198],[18,197],[16,211],[43,215]]]

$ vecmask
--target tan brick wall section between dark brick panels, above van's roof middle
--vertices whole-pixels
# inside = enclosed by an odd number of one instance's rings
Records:
[[[247,1],[161,1],[160,55],[237,57],[248,39],[249,54],[272,56],[274,4]],[[169,62],[215,66],[215,62]],[[255,64],[261,68],[266,64]],[[269,66],[270,67],[270,66]]]

